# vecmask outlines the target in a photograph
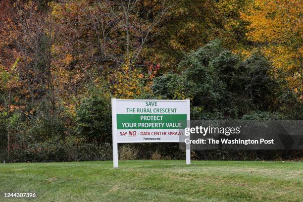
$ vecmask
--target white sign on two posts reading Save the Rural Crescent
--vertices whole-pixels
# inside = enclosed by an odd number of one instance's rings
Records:
[[[179,142],[190,120],[190,100],[111,100],[113,165],[118,143]],[[186,148],[190,164],[190,148]]]

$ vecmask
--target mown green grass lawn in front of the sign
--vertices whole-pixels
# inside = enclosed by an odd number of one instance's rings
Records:
[[[137,160],[0,164],[4,193],[24,201],[302,202],[303,162]]]

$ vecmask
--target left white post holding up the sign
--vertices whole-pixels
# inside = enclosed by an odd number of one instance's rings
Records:
[[[112,124],[112,160],[113,167],[118,167],[118,143],[117,143],[117,102],[115,98],[111,99],[111,124]]]

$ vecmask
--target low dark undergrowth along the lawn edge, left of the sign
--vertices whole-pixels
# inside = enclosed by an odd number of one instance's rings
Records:
[[[64,141],[53,139],[34,143],[25,149],[12,150],[9,155],[7,155],[6,150],[0,154],[1,162],[63,162],[110,159],[112,159],[112,147],[109,143],[83,143],[75,137],[69,137]]]

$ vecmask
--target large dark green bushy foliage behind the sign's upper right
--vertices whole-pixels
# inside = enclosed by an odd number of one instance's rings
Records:
[[[270,68],[261,54],[241,61],[214,40],[184,57],[179,64],[181,75],[155,78],[152,91],[170,99],[183,92],[204,114],[198,115],[195,109],[196,117],[239,118],[252,110],[268,110],[272,104],[277,85],[269,75]]]

